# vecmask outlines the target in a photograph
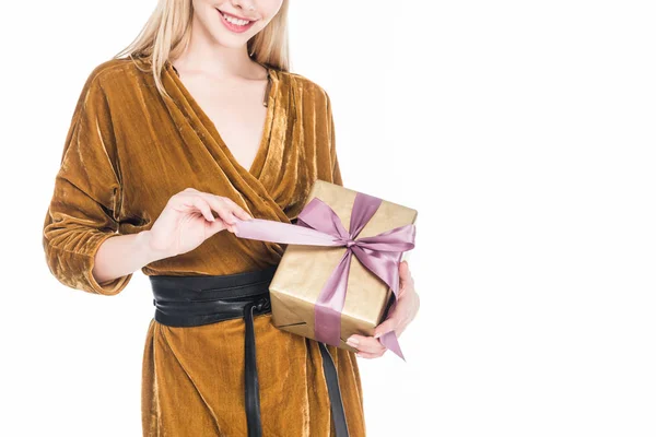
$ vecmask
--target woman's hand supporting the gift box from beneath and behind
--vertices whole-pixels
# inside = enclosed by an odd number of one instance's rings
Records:
[[[390,308],[389,317],[374,330],[373,336],[353,334],[349,336],[347,344],[358,349],[358,356],[362,358],[377,358],[387,351],[378,338],[386,332],[396,331],[397,338],[406,330],[406,327],[414,319],[419,311],[419,295],[414,291],[414,280],[410,274],[408,261],[399,264],[399,296],[394,307]]]

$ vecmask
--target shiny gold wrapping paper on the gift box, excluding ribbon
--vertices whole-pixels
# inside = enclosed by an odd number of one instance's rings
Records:
[[[317,179],[305,204],[319,198],[340,217],[349,231],[356,191]],[[376,213],[358,235],[370,237],[395,227],[414,224],[417,210],[383,200]],[[314,336],[314,307],[324,284],[343,256],[345,247],[288,245],[269,285],[273,324],[302,336]],[[399,257],[399,261],[402,259]],[[354,333],[373,335],[391,304],[393,291],[352,256],[341,334],[338,347],[358,352],[345,341]]]

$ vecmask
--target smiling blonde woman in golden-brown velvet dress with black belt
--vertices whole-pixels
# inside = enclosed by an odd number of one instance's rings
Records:
[[[75,106],[44,249],[62,284],[90,293],[149,275],[144,436],[365,435],[355,354],[273,327],[267,280],[284,246],[231,226],[293,223],[314,180],[342,184],[330,99],[289,72],[286,14],[286,0],[161,0]],[[406,262],[400,276],[376,334],[417,314]],[[351,340],[360,356],[385,352]]]

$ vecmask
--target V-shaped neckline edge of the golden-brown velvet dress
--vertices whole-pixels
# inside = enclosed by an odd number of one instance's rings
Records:
[[[273,109],[274,109],[276,103],[278,102],[278,99],[277,99],[278,81],[276,80],[277,79],[276,70],[260,63],[260,66],[262,66],[263,68],[267,69],[268,83],[267,83],[267,87],[266,87],[266,92],[265,92],[267,94],[265,97],[266,102],[267,102],[267,114],[265,116],[263,130],[262,130],[262,134],[261,134],[260,141],[259,141],[259,144],[258,144],[258,149],[255,153],[255,158],[253,160],[253,163],[250,164],[250,168],[246,168],[242,164],[239,164],[239,162],[235,158],[234,154],[232,153],[232,151],[230,150],[230,147],[223,140],[223,137],[221,137],[221,133],[219,132],[216,125],[214,125],[214,121],[212,121],[212,119],[208,116],[208,114],[200,106],[200,104],[196,101],[196,98],[194,98],[194,96],[191,95],[191,93],[189,92],[187,86],[183,83],[183,81],[179,76],[179,73],[177,72],[177,69],[173,66],[173,63],[169,60],[165,61],[165,66],[168,69],[171,69],[171,74],[172,74],[172,76],[174,76],[174,80],[176,81],[181,93],[185,95],[185,97],[187,98],[187,101],[189,102],[189,104],[194,108],[194,110],[197,113],[197,115],[201,119],[201,121],[208,127],[208,129],[210,129],[211,133],[216,139],[219,146],[223,150],[223,152],[225,153],[227,158],[233,163],[233,165],[236,168],[239,168],[241,170],[253,176],[255,179],[259,180],[262,169],[263,169],[266,155],[267,155],[267,152],[269,151],[269,143],[271,140],[271,129],[273,127]]]

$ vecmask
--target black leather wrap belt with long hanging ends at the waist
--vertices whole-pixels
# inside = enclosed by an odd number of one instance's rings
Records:
[[[262,435],[259,385],[255,359],[253,316],[271,312],[269,284],[278,265],[229,275],[150,275],[155,320],[169,327],[197,327],[244,317],[246,322],[245,387],[248,437]],[[338,437],[348,437],[347,417],[337,378],[337,368],[325,343],[324,375],[330,397],[332,423]]]

